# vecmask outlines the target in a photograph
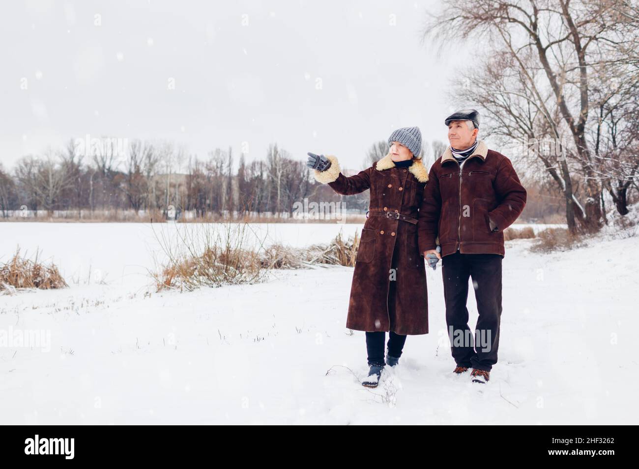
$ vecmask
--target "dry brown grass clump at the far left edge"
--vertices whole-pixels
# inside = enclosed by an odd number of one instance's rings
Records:
[[[0,294],[12,293],[22,288],[49,290],[65,287],[68,285],[58,267],[41,262],[38,253],[35,260],[30,260],[20,255],[18,248],[9,262],[0,264]]]

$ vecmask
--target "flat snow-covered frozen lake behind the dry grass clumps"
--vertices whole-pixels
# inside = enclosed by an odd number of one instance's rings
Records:
[[[225,231],[222,224],[208,226],[216,227],[221,233]],[[327,243],[340,232],[344,237],[351,237],[363,226],[360,223],[250,223],[244,233],[248,245],[279,243],[301,248]],[[525,226],[539,231],[561,225],[513,225],[513,228]],[[68,283],[85,283],[90,271],[94,280],[141,285],[148,281],[148,270],[164,260],[163,240],[176,245],[185,230],[201,233],[204,228],[200,223],[0,223],[0,261],[6,261],[18,246],[23,254],[33,254],[39,249],[42,258],[58,265]]]

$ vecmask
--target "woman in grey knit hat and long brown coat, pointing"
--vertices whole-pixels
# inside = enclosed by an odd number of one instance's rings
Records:
[[[376,387],[385,364],[396,366],[407,335],[427,334],[426,271],[417,242],[417,216],[428,172],[419,155],[417,127],[394,131],[389,153],[351,177],[335,156],[309,153],[315,179],[339,194],[370,190],[353,272],[346,327],[366,332],[369,373],[362,385]],[[389,332],[384,357],[385,332]]]

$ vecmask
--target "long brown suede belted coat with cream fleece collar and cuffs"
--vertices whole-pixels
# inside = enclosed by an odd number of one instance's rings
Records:
[[[337,158],[327,158],[331,166],[325,172],[314,172],[317,181],[343,195],[371,191],[371,214],[357,251],[346,327],[356,331],[427,334],[426,270],[419,251],[417,225],[394,215],[417,219],[428,180],[422,160],[413,158],[410,167],[398,168],[387,154],[370,168],[346,177]],[[397,258],[392,264],[393,252]],[[392,271],[393,265],[396,268]],[[391,281],[396,282],[394,304],[389,304]]]

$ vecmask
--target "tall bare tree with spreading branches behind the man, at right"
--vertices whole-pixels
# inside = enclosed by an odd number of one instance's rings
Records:
[[[472,8],[446,1],[429,25],[442,43],[455,35],[482,36],[496,46],[463,76],[457,94],[486,108],[491,129],[502,137],[560,142],[555,154],[533,156],[564,192],[573,231],[576,221],[589,231],[601,227],[603,184],[588,131],[590,110],[599,103],[590,90],[606,86],[597,70],[631,68],[627,49],[639,26],[632,13],[608,0],[476,0]],[[572,187],[575,172],[583,203]]]

